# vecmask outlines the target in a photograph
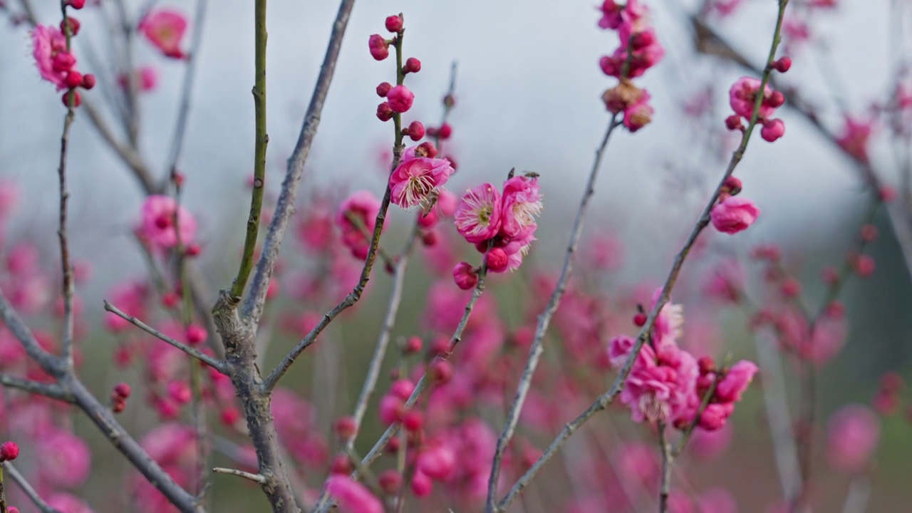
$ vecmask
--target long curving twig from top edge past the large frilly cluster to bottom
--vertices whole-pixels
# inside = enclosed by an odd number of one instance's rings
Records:
[[[772,66],[769,65],[772,63],[772,59],[775,57],[776,49],[779,47],[781,40],[780,33],[782,30],[782,18],[785,14],[785,5],[788,4],[788,0],[780,0],[779,2],[779,16],[776,18],[776,28],[772,37],[772,45],[770,48],[770,55],[767,59],[768,66],[764,69],[760,84],[760,89],[763,90],[766,87],[767,82],[770,80],[770,75],[772,73]],[[627,382],[627,376],[630,374],[633,369],[633,363],[639,354],[640,349],[642,349],[643,344],[649,338],[649,334],[652,331],[653,326],[656,324],[656,319],[658,319],[658,313],[668,302],[668,299],[671,297],[671,289],[674,288],[675,283],[678,281],[678,275],[680,273],[681,267],[684,265],[684,260],[690,253],[690,249],[697,242],[697,238],[700,236],[700,233],[710,224],[710,212],[715,206],[716,202],[719,200],[721,190],[725,181],[731,176],[731,173],[734,173],[735,168],[741,162],[741,159],[744,156],[744,152],[747,151],[748,142],[751,139],[751,133],[753,133],[754,127],[757,125],[759,118],[760,107],[762,105],[763,95],[758,94],[756,102],[753,106],[753,113],[751,115],[751,121],[748,123],[747,128],[744,130],[744,133],[741,135],[741,144],[738,148],[731,154],[731,161],[725,171],[725,174],[722,175],[722,178],[719,184],[716,186],[715,192],[710,197],[710,201],[703,208],[703,212],[700,214],[700,218],[697,221],[697,224],[694,225],[693,229],[690,231],[690,235],[685,241],[684,246],[681,247],[678,255],[675,256],[674,264],[672,265],[670,271],[668,272],[668,277],[665,279],[665,284],[662,286],[662,291],[659,294],[659,297],[656,301],[656,304],[653,305],[652,310],[649,312],[649,315],[646,319],[646,324],[643,325],[639,334],[637,335],[637,341],[634,343],[633,348],[630,351],[630,355],[627,357],[627,361],[624,362],[624,366],[621,368],[620,372],[615,379],[615,382],[611,384],[611,388],[608,389],[606,393],[603,393],[596,401],[592,403],[586,411],[582,414],[579,414],[573,422],[566,424],[564,429],[560,434],[554,439],[554,441],[548,445],[544,453],[539,456],[538,460],[535,461],[534,465],[530,467],[525,474],[516,482],[515,485],[510,489],[505,497],[498,503],[497,510],[504,510],[510,506],[510,504],[515,500],[516,496],[523,491],[523,488],[528,486],[529,482],[536,476],[544,467],[549,459],[551,459],[554,454],[560,449],[561,445],[564,445],[566,439],[573,434],[579,427],[586,422],[596,413],[605,410],[608,404],[612,403],[617,397],[624,386],[624,383]]]

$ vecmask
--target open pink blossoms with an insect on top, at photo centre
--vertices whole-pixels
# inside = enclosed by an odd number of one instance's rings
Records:
[[[538,178],[512,176],[503,183],[503,194],[491,183],[470,189],[456,207],[454,223],[460,235],[484,253],[488,270],[503,273],[523,263],[541,210]],[[478,282],[476,270],[467,262],[453,268],[453,277],[463,289]]]

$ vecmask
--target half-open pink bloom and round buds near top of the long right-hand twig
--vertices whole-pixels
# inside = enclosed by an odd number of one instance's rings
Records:
[[[792,67],[792,60],[783,57],[772,65],[772,68],[781,70],[784,73]],[[760,135],[764,141],[776,141],[785,134],[785,123],[782,120],[773,119],[772,115],[776,109],[782,107],[785,103],[785,96],[781,91],[773,90],[769,84],[763,85],[762,98],[760,95],[760,79],[751,77],[741,77],[735,81],[729,90],[729,103],[734,114],[725,119],[725,126],[731,131],[746,130],[742,120],[751,122],[754,108],[757,101],[760,101],[760,109],[757,110],[757,122],[761,123],[763,128]]]

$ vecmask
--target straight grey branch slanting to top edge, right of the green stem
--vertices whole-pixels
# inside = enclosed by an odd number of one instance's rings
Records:
[[[310,105],[307,107],[304,124],[297,138],[295,150],[288,159],[285,181],[282,183],[282,191],[279,193],[279,198],[275,204],[275,213],[266,232],[260,259],[256,263],[254,280],[247,293],[247,298],[244,299],[244,319],[248,319],[254,325],[259,322],[260,316],[263,314],[266,289],[269,287],[269,279],[272,277],[275,260],[278,258],[279,247],[282,246],[282,239],[285,237],[285,228],[295,212],[297,186],[301,182],[304,164],[316,137],[316,129],[320,124],[320,115],[323,111],[323,104],[326,102],[326,95],[329,92],[329,84],[332,82],[333,75],[336,72],[336,61],[338,60],[339,50],[342,47],[342,37],[345,36],[348,17],[351,16],[351,9],[354,5],[355,0],[342,0],[339,5],[336,21],[333,23],[332,34],[329,37],[329,44],[326,47],[326,56],[323,58],[323,66],[320,68],[320,74],[316,79],[314,94],[310,98]]]

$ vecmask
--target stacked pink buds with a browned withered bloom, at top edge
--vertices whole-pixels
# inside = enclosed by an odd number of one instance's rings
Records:
[[[658,42],[656,30],[649,25],[648,7],[638,0],[627,0],[618,5],[615,0],[606,0],[600,7],[602,18],[598,26],[617,30],[620,46],[610,56],[599,61],[602,71],[609,77],[617,77],[620,83],[602,95],[605,106],[612,114],[624,113],[624,126],[634,132],[652,120],[653,108],[649,105],[649,93],[639,89],[630,79],[642,77],[665,55],[665,49]]]

